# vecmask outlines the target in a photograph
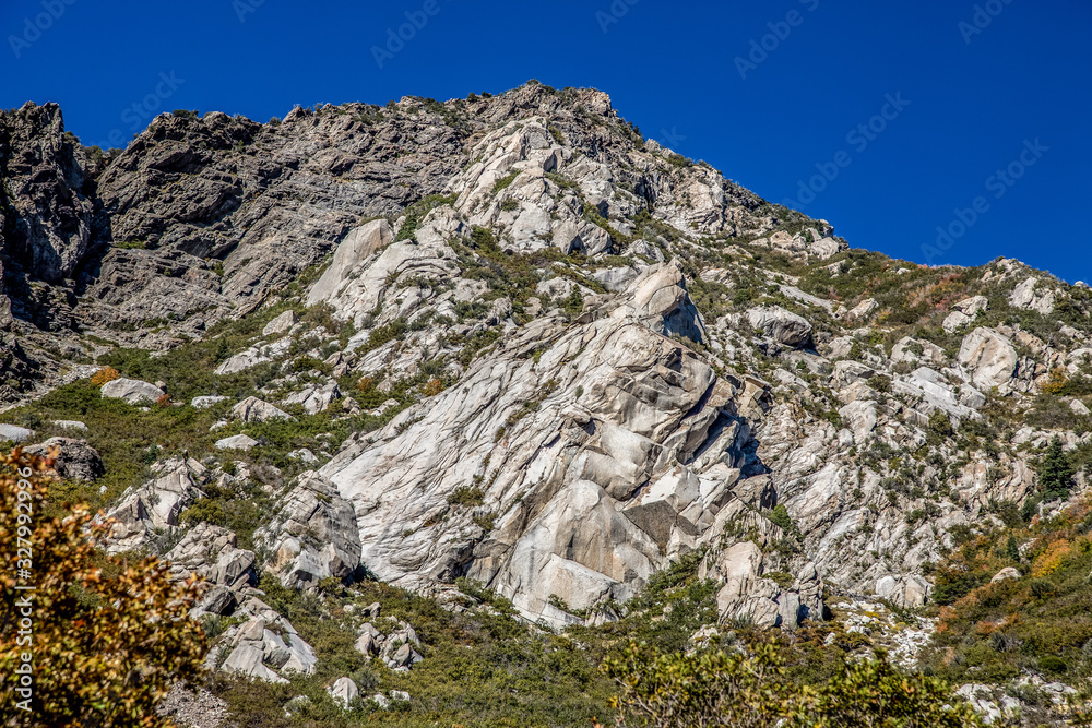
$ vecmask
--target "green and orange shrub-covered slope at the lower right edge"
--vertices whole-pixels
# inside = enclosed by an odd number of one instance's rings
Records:
[[[1000,513],[1009,525],[963,532],[938,566],[940,622],[924,665],[959,682],[1032,671],[1079,683],[1092,677],[1092,503],[1029,524],[1014,510]]]

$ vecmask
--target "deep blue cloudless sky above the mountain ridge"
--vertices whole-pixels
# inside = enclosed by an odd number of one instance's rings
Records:
[[[1092,279],[1092,3],[975,5],[4,0],[0,106],[57,102],[70,131],[105,145],[154,107],[265,121],[532,77],[594,86],[645,136],[793,199],[855,247]],[[407,12],[422,27],[377,60]],[[953,234],[940,247],[938,226]]]

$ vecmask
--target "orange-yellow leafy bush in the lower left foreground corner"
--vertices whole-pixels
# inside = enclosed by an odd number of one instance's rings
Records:
[[[168,582],[155,559],[105,557],[93,540],[109,524],[84,508],[46,516],[54,457],[17,447],[0,455],[0,536],[11,566],[0,571],[0,675],[20,680],[0,691],[0,725],[170,726],[155,704],[175,681],[200,673],[205,653],[188,617],[197,585]]]

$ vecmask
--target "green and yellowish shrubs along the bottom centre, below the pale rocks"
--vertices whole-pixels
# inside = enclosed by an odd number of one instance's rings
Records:
[[[796,720],[785,724],[792,726],[978,725],[965,708],[947,707],[951,692],[939,679],[904,675],[882,655],[869,659],[863,652],[869,641],[838,623],[770,635],[740,622],[692,641],[716,619],[715,586],[697,576],[700,558],[673,563],[630,602],[610,607],[617,621],[561,633],[518,620],[506,599],[472,582],[459,583],[458,608],[446,609],[377,582],[325,584],[316,595],[263,580],[269,604],[314,646],[319,671],[293,677],[289,685],[216,678],[211,687],[240,725],[285,728],[560,727],[615,717],[624,726],[772,726],[781,718]],[[411,672],[366,661],[353,648],[356,614],[372,602],[381,606],[381,630],[397,620],[414,625],[425,660]],[[341,676],[361,690],[363,700],[347,712],[324,691]],[[412,699],[390,711],[369,700],[390,690]],[[652,694],[657,707],[649,714],[641,706]],[[292,702],[298,695],[308,700]],[[702,723],[712,708],[720,723]],[[762,720],[737,721],[743,716]],[[867,723],[877,716],[883,719]]]

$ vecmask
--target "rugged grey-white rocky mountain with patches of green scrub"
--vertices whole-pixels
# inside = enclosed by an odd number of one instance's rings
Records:
[[[321,665],[262,575],[565,630],[690,559],[721,629],[927,611],[966,533],[1088,482],[1037,475],[1092,453],[1088,286],[851,249],[596,91],[176,111],[108,153],[27,104],[0,177],[7,437],[69,438],[109,548],[207,581],[227,671]],[[358,653],[427,661],[373,612]]]

